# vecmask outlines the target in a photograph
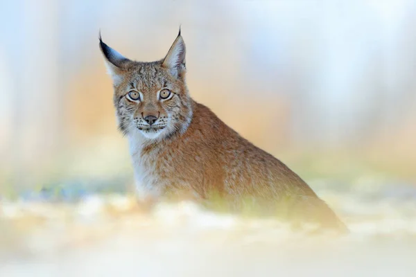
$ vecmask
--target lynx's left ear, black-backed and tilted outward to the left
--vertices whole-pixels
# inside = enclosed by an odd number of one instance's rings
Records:
[[[105,44],[103,39],[101,39],[101,33],[99,39],[101,52],[103,52],[105,58],[107,72],[111,75],[114,85],[120,84],[123,80],[123,73],[130,60]]]

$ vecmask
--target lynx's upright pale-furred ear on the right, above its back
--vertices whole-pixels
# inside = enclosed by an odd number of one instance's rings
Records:
[[[177,34],[175,42],[173,42],[162,64],[176,78],[182,77],[185,73],[185,52],[185,42],[179,29],[179,34]]]

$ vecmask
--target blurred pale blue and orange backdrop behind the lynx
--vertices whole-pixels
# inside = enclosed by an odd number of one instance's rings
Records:
[[[414,228],[413,0],[0,1],[0,201],[130,192],[98,31],[153,61],[180,24],[194,99],[350,226]]]

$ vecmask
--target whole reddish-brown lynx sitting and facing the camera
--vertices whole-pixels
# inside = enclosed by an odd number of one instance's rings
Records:
[[[216,195],[233,211],[259,206],[263,215],[346,230],[295,172],[191,98],[180,32],[155,62],[129,60],[101,36],[100,47],[114,84],[119,129],[130,145],[138,195],[192,195],[204,203]]]

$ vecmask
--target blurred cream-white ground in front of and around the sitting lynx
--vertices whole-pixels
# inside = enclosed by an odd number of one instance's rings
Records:
[[[0,276],[416,276],[414,187],[318,193],[349,235],[311,237],[191,202],[145,213],[122,195],[3,200]]]

